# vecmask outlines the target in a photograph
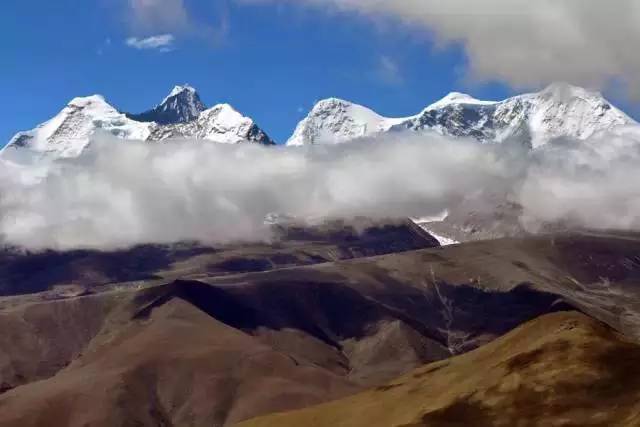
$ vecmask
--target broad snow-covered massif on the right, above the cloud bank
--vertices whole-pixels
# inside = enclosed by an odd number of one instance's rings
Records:
[[[366,114],[361,112],[365,111]],[[480,142],[519,141],[537,148],[556,138],[586,139],[619,125],[637,124],[600,93],[568,84],[504,101],[453,92],[415,116],[386,118],[346,101],[321,101],[288,145],[345,142],[382,132],[435,131]]]

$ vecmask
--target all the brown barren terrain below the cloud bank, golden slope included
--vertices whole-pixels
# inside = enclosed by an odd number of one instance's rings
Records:
[[[293,231],[6,262],[0,425],[633,425],[638,236]]]

